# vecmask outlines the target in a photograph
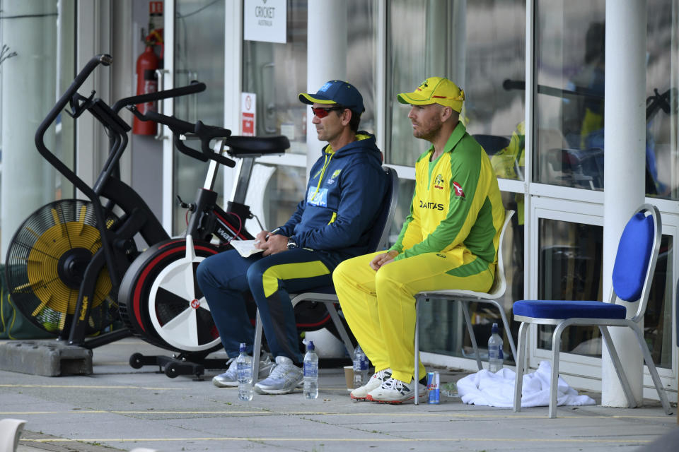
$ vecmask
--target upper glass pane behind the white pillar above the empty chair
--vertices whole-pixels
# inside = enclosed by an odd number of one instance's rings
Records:
[[[677,11],[676,0],[647,6],[649,196],[677,197]],[[538,1],[536,13],[535,180],[603,190],[605,0]]]

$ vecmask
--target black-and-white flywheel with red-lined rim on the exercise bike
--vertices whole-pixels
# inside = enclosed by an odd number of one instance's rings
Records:
[[[171,239],[140,254],[120,283],[120,316],[147,342],[167,350],[209,353],[221,347],[219,332],[196,282],[196,268],[217,246]]]

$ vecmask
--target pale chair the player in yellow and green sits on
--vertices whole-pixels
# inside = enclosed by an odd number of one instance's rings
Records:
[[[504,312],[504,307],[499,302],[499,299],[504,295],[507,288],[507,280],[504,276],[504,261],[502,258],[502,247],[504,244],[504,236],[509,227],[509,222],[511,217],[514,215],[513,210],[507,210],[504,214],[504,225],[502,225],[502,230],[500,232],[500,241],[497,250],[497,267],[495,268],[495,279],[493,285],[490,287],[488,292],[474,292],[473,290],[429,290],[426,292],[419,292],[415,294],[415,379],[414,381],[419,381],[419,302],[429,301],[431,298],[436,299],[446,299],[453,302],[462,303],[462,311],[465,316],[465,324],[467,325],[467,331],[469,332],[469,337],[472,341],[472,347],[474,348],[474,353],[476,355],[476,363],[479,370],[483,369],[483,364],[481,364],[481,355],[479,353],[479,346],[476,342],[476,335],[474,334],[474,328],[472,328],[472,321],[469,315],[469,304],[471,302],[477,303],[489,303],[492,304],[500,311],[500,316],[502,318],[502,324],[504,326],[504,331],[507,333],[507,340],[509,340],[509,347],[511,348],[511,353],[516,357],[516,347],[514,346],[513,338],[511,337],[511,330],[509,329],[509,321],[507,320],[507,315]],[[415,385],[415,405],[419,405],[419,385]]]

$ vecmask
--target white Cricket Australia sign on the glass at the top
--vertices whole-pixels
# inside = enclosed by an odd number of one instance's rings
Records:
[[[245,0],[243,39],[285,43],[287,15],[286,0]]]

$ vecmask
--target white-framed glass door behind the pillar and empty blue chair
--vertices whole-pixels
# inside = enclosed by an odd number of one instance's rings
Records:
[[[533,142],[528,297],[608,299],[603,284],[605,0],[534,2]],[[647,3],[646,201],[663,218],[663,238],[644,318],[658,372],[675,386],[673,300],[677,256],[677,0]],[[579,201],[573,201],[579,200]],[[558,206],[555,208],[555,206]],[[549,359],[550,327],[531,331],[530,366]],[[580,387],[600,388],[596,328],[562,335],[561,370]],[[652,386],[644,376],[646,386]],[[571,381],[571,380],[569,380]]]

